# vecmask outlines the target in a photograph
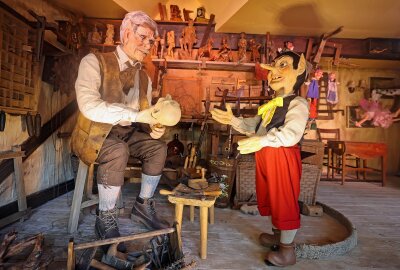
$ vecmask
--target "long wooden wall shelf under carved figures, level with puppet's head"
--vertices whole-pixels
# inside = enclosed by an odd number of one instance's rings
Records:
[[[216,62],[216,61],[199,61],[199,60],[166,60],[152,59],[156,66],[164,66],[167,63],[168,68],[173,69],[208,69],[208,70],[228,70],[228,71],[244,71],[254,72],[254,63],[238,63],[238,62]]]

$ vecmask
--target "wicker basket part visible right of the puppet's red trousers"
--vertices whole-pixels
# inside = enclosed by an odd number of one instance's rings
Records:
[[[318,165],[303,163],[300,180],[299,201],[307,205],[315,205],[318,182],[321,177],[321,169]]]

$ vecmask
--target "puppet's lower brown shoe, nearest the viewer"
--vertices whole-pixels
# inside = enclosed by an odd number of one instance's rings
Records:
[[[275,266],[289,266],[296,264],[296,252],[294,244],[279,244],[278,251],[271,251],[265,257],[265,263]]]

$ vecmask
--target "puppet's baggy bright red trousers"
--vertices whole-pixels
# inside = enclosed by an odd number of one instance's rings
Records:
[[[260,214],[271,216],[272,224],[280,230],[300,228],[300,148],[264,147],[255,158]]]

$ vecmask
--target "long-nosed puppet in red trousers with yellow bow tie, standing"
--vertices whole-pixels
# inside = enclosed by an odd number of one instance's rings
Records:
[[[241,154],[255,153],[256,193],[260,215],[270,216],[273,234],[259,237],[264,246],[279,248],[266,254],[265,262],[275,266],[296,263],[294,237],[300,228],[301,156],[299,141],[309,115],[307,101],[297,96],[306,77],[306,60],[292,51],[280,54],[268,70],[268,85],[276,97],[258,108],[258,115],[235,117],[229,105],[226,111],[214,108],[211,115],[231,125],[249,138],[238,142]]]

